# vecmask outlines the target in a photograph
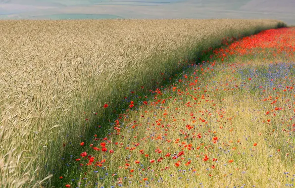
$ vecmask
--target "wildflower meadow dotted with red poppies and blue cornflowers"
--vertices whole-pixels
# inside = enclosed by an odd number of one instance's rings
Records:
[[[294,186],[295,28],[222,43],[182,58],[169,78],[159,72],[164,84],[130,91],[91,138],[65,141],[80,155],[61,159],[56,185]]]

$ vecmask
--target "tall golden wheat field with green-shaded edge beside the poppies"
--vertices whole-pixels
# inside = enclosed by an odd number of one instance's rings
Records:
[[[49,186],[52,169],[98,117],[181,57],[285,26],[276,20],[1,20],[0,187]],[[85,121],[85,120],[88,121]]]

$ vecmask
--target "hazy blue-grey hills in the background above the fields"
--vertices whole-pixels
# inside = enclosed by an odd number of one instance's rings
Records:
[[[278,19],[295,24],[295,0],[0,0],[0,19]]]

